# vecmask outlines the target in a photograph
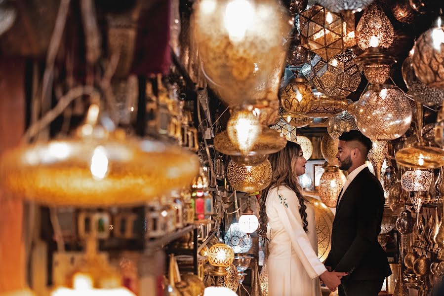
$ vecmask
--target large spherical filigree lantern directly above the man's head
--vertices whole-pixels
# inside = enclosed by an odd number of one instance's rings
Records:
[[[393,85],[370,86],[355,110],[359,130],[371,140],[394,140],[409,128],[409,100]]]

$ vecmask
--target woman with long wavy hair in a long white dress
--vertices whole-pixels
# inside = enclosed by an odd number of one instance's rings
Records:
[[[320,296],[320,281],[335,291],[347,275],[329,272],[318,259],[318,238],[312,206],[301,194],[297,176],[305,173],[301,147],[287,142],[269,156],[273,169],[270,185],[262,192],[258,234],[269,244],[269,296]]]

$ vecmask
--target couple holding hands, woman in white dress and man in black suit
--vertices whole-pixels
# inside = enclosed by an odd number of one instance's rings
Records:
[[[391,274],[378,243],[384,210],[381,184],[365,160],[372,142],[352,130],[339,137],[339,168],[348,172],[337,202],[331,250],[318,259],[312,205],[302,195],[298,176],[305,173],[301,147],[287,142],[271,154],[271,184],[262,192],[258,234],[269,230],[268,292],[270,296],[320,296],[320,281],[339,296],[376,296]]]

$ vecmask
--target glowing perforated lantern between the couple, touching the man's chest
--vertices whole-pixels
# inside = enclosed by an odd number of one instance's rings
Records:
[[[319,197],[327,207],[336,208],[339,193],[346,181],[347,178],[338,167],[324,166],[319,183]]]

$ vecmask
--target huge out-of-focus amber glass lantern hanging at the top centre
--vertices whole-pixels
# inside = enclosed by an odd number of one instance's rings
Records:
[[[281,77],[274,72],[283,69],[281,39],[290,30],[283,7],[274,0],[200,0],[193,8],[193,37],[211,89],[229,105],[277,94]]]

